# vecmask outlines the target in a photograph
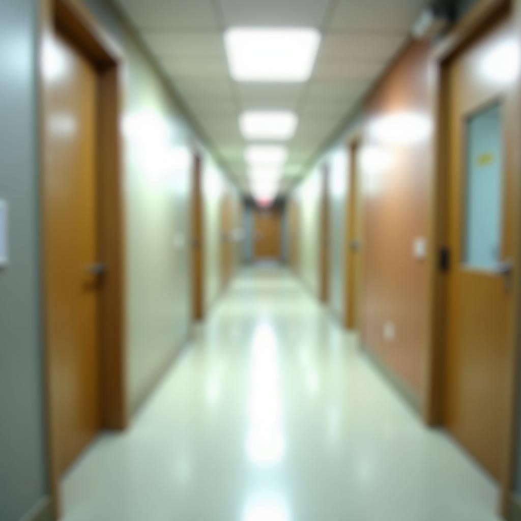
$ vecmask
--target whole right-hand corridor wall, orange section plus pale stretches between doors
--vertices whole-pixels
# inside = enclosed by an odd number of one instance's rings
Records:
[[[427,58],[425,44],[406,49],[351,128],[363,130],[359,155],[365,273],[362,339],[418,395],[427,334],[427,272],[425,261],[413,256],[413,243],[427,238],[430,136],[424,130],[432,123]],[[299,275],[318,295],[319,169],[324,163],[329,165],[329,307],[337,316],[344,316],[344,288],[350,283],[345,280],[344,259],[349,134],[290,195],[299,210]],[[386,325],[388,332],[394,329],[394,338],[384,338]]]

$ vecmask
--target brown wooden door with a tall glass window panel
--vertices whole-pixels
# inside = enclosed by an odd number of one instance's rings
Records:
[[[497,23],[446,69],[450,269],[444,420],[495,477],[502,470],[513,359],[514,303],[508,265],[502,264],[513,258],[517,237],[511,40],[510,23]]]

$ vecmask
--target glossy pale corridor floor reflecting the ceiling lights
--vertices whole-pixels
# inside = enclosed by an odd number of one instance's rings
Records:
[[[497,493],[286,272],[244,272],[123,435],[64,480],[67,521],[493,521]]]

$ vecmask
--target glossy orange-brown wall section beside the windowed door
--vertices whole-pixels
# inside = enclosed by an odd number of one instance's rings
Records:
[[[413,255],[413,242],[428,231],[428,50],[412,44],[367,99],[359,155],[362,337],[418,393],[427,334],[427,264]],[[388,321],[395,327],[391,340],[383,334]]]

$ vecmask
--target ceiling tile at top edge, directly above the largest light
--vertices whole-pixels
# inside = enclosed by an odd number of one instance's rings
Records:
[[[228,27],[321,27],[329,0],[219,0]]]

